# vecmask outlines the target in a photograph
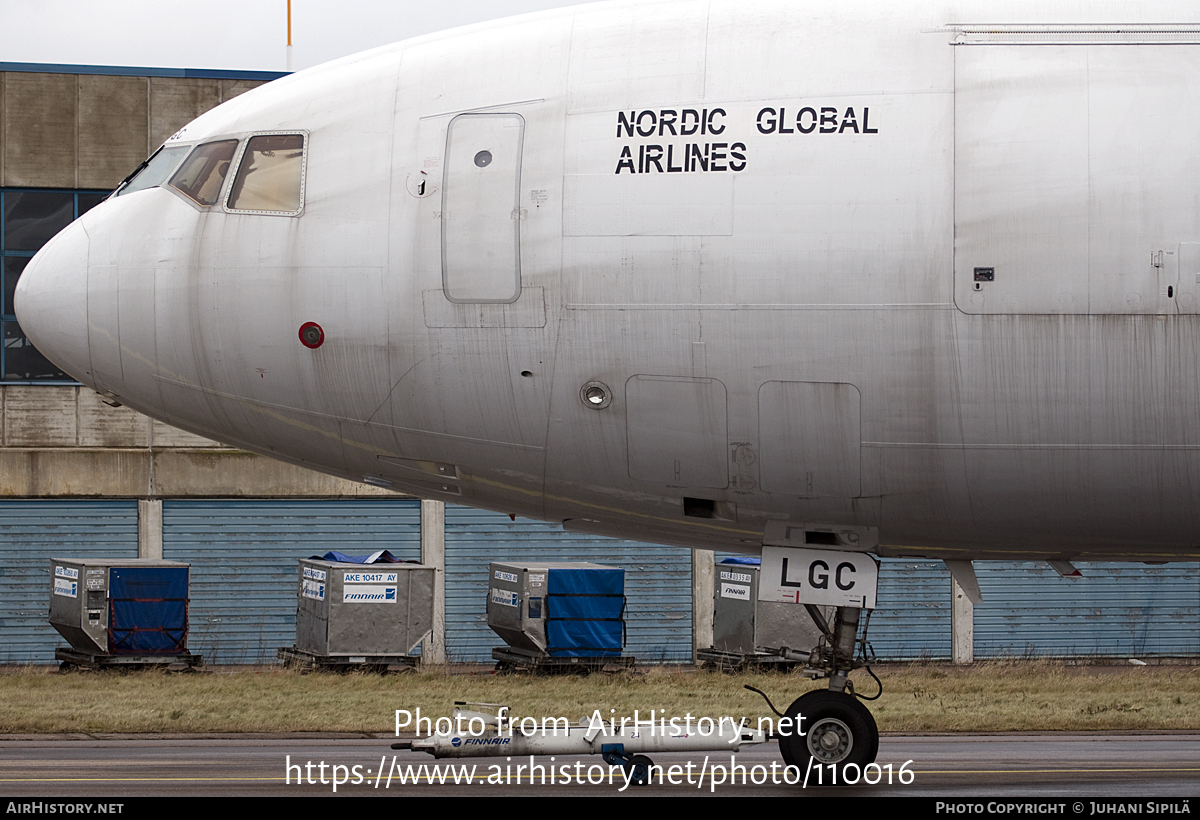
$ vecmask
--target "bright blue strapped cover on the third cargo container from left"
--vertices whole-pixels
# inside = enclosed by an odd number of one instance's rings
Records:
[[[625,646],[625,570],[552,568],[546,642],[554,658],[618,657]]]

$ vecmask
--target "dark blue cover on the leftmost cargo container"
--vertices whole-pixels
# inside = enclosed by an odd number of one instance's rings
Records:
[[[187,650],[187,568],[114,567],[108,600],[112,654],[179,654]]]

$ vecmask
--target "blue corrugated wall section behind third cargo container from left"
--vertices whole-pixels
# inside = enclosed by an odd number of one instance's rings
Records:
[[[625,569],[625,654],[691,660],[691,550],[564,532],[558,525],[446,505],[446,656],[491,662],[504,646],[487,628],[492,561],[592,561]]]

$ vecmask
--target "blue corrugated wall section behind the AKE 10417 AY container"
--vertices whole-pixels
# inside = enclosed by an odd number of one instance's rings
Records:
[[[295,642],[300,558],[421,557],[413,498],[164,501],[162,517],[163,557],[192,565],[187,645],[210,664],[274,662]]]

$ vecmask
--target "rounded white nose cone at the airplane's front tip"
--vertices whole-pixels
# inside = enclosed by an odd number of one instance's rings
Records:
[[[88,233],[68,225],[30,259],[17,282],[17,323],[42,355],[91,382],[88,348]]]

